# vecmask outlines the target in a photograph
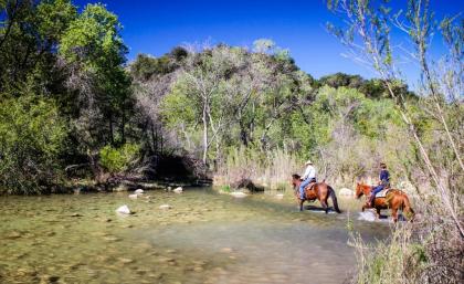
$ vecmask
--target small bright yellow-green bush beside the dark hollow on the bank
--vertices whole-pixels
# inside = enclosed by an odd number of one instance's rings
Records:
[[[138,152],[139,146],[135,144],[125,144],[119,148],[107,145],[99,151],[99,164],[112,173],[125,171]]]

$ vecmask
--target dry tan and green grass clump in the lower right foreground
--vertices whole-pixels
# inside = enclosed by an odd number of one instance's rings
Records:
[[[463,201],[452,197],[462,215]],[[352,233],[357,272],[351,283],[463,283],[464,241],[437,194],[414,200],[418,217],[383,242],[368,245]]]

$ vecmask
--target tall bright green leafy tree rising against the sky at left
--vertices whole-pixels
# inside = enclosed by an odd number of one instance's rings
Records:
[[[124,70],[127,48],[117,17],[103,4],[87,4],[64,32],[60,55],[75,71],[72,88],[81,92],[81,130],[91,150],[109,141],[124,144],[131,99],[128,74]],[[117,139],[115,125],[119,120]],[[92,124],[98,125],[95,129]],[[83,136],[82,136],[83,137]]]

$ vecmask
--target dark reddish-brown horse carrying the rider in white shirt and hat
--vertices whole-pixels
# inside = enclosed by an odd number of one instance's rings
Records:
[[[295,196],[299,202],[299,211],[303,211],[303,203],[308,201],[314,201],[316,199],[319,200],[320,204],[323,206],[326,214],[328,212],[328,204],[327,199],[330,197],[331,202],[334,203],[334,209],[337,213],[341,213],[340,209],[338,209],[337,196],[335,194],[335,190],[328,186],[325,181],[316,182],[314,186],[309,183],[305,188],[305,200],[299,199],[299,185],[302,183],[302,178],[298,175],[292,175],[292,186],[295,188]]]

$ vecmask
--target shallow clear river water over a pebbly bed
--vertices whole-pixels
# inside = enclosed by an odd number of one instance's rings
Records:
[[[1,197],[0,283],[342,283],[355,267],[347,212],[360,203],[297,212],[292,192],[275,193]],[[123,204],[136,213],[118,215]],[[367,240],[389,233],[351,219]]]

